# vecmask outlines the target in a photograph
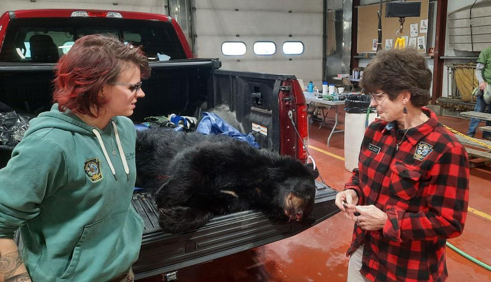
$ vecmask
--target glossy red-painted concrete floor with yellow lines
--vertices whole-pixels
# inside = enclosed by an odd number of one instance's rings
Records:
[[[341,121],[344,121],[343,115]],[[451,117],[440,117],[440,122],[463,133],[468,125],[468,120]],[[317,123],[309,126],[309,151],[325,182],[334,189],[342,189],[351,173],[344,169],[343,134],[334,134],[331,146],[326,145],[332,125],[333,121],[329,121],[320,129]],[[478,132],[477,137],[480,134]],[[470,185],[469,207],[473,212],[467,214],[463,234],[449,242],[491,265],[491,166],[472,168]],[[346,281],[348,258],[345,254],[352,228],[353,223],[338,213],[296,236],[181,269],[177,276],[179,281]],[[447,267],[449,282],[491,281],[491,271],[450,248],[447,248]],[[162,278],[153,276],[139,281],[162,281]]]

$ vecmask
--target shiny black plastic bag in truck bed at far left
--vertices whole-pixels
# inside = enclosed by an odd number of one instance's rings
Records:
[[[0,113],[0,148],[12,150],[24,137],[29,120],[35,116],[15,111]]]

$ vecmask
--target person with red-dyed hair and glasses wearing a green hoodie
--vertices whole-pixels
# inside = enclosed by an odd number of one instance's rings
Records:
[[[144,226],[131,206],[136,131],[127,117],[145,96],[147,58],[87,35],[55,70],[56,103],[30,121],[0,170],[0,281],[132,281]]]

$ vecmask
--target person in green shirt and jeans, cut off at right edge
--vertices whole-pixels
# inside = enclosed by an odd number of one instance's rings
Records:
[[[486,84],[491,82],[491,46],[482,50],[481,54],[479,54],[476,65],[476,77],[477,81],[479,82],[479,89],[481,90],[479,93],[481,95],[476,96],[476,106],[474,107],[474,111],[484,113],[486,109],[486,102],[484,101],[482,93],[486,87]],[[491,114],[490,105],[487,107],[487,113]],[[476,135],[476,128],[480,122],[480,119],[471,118],[469,128],[467,129],[467,136],[474,137]],[[486,120],[486,126],[490,125],[491,121]],[[491,141],[491,132],[483,131],[482,138]]]

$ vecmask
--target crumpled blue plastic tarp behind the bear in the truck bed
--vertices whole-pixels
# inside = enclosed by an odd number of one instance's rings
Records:
[[[223,134],[232,138],[249,143],[249,145],[259,148],[259,144],[252,134],[240,133],[235,127],[228,124],[225,120],[221,119],[214,113],[203,112],[203,118],[198,123],[196,131],[201,134]]]

